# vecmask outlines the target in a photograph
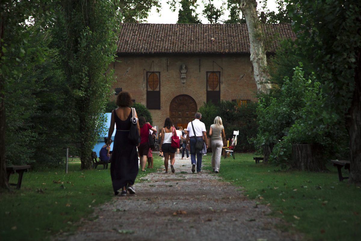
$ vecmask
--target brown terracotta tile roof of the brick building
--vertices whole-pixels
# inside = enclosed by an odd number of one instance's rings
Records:
[[[290,24],[263,24],[265,35],[295,39]],[[274,52],[273,41],[268,52]],[[249,53],[246,24],[122,23],[118,54]]]

